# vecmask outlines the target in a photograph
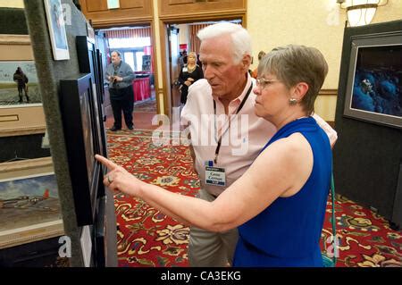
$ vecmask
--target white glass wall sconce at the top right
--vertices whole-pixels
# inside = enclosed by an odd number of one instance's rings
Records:
[[[388,1],[381,4],[381,0],[337,0],[337,3],[347,10],[349,25],[356,27],[371,23],[377,7],[388,4]]]

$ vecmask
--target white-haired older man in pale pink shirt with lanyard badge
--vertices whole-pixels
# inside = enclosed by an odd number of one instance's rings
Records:
[[[191,153],[201,184],[198,197],[211,202],[247,171],[276,128],[255,115],[255,80],[247,72],[251,63],[251,38],[247,30],[221,22],[201,29],[197,36],[201,40],[200,60],[205,79],[188,89],[181,121],[189,124]],[[214,119],[200,122],[211,116]],[[315,114],[314,119],[333,146],[336,131]],[[208,136],[209,140],[205,138]],[[231,264],[238,238],[237,229],[212,232],[191,227],[189,264],[207,267]]]

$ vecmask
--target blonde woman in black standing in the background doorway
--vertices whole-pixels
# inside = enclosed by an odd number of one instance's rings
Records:
[[[185,64],[179,74],[179,84],[180,84],[180,103],[186,104],[188,88],[191,84],[197,80],[203,79],[204,73],[201,67],[197,64],[197,54],[194,52],[188,53],[187,64]]]

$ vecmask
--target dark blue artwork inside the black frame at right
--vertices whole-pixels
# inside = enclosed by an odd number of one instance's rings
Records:
[[[351,107],[402,117],[402,46],[360,47]]]

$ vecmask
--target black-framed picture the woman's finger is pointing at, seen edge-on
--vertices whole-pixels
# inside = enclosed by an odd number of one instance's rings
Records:
[[[101,165],[97,126],[96,92],[91,74],[61,80],[60,105],[74,205],[79,226],[92,224],[96,212],[96,197],[101,180]]]

